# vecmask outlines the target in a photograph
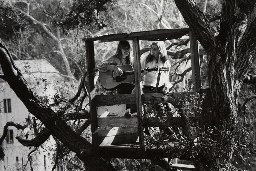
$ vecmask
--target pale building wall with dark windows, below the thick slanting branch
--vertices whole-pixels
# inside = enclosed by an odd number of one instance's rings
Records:
[[[22,101],[15,95],[14,91],[9,87],[6,82],[0,83],[0,87],[5,90],[0,93],[0,101],[3,106],[2,112],[0,113],[0,135],[3,134],[3,127],[7,122],[15,122],[21,125],[26,124],[26,118],[28,118],[29,112]],[[3,99],[11,99],[11,112],[4,113]],[[22,166],[26,165],[28,161],[28,153],[32,151],[33,148],[20,144],[15,137],[20,135],[21,130],[17,130],[13,126],[8,127],[9,130],[13,130],[13,142],[8,143],[4,140],[2,147],[4,148],[4,161],[0,162],[0,171],[11,171],[11,170],[23,170]],[[33,131],[29,131],[28,139],[34,138]],[[54,146],[54,140],[49,139],[46,145]],[[50,171],[51,170],[51,160],[49,159],[47,152],[41,147],[36,152],[37,154],[31,154],[31,159],[33,160],[33,169],[39,171]],[[40,153],[40,154],[39,154]],[[45,157],[44,157],[45,155]],[[46,166],[45,166],[46,163]],[[30,170],[29,163],[26,166],[26,170]]]

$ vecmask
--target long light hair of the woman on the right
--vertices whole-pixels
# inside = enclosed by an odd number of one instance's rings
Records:
[[[163,41],[156,41],[156,42],[153,42],[150,46],[150,54],[148,54],[148,56],[146,57],[146,64],[148,62],[151,62],[154,60],[154,56],[151,55],[151,47],[153,45],[156,45],[158,47],[158,51],[160,53],[160,60],[162,61],[162,63],[165,63],[166,62],[166,58],[165,56],[167,55],[167,51],[166,51],[166,47],[165,47],[165,42]]]

